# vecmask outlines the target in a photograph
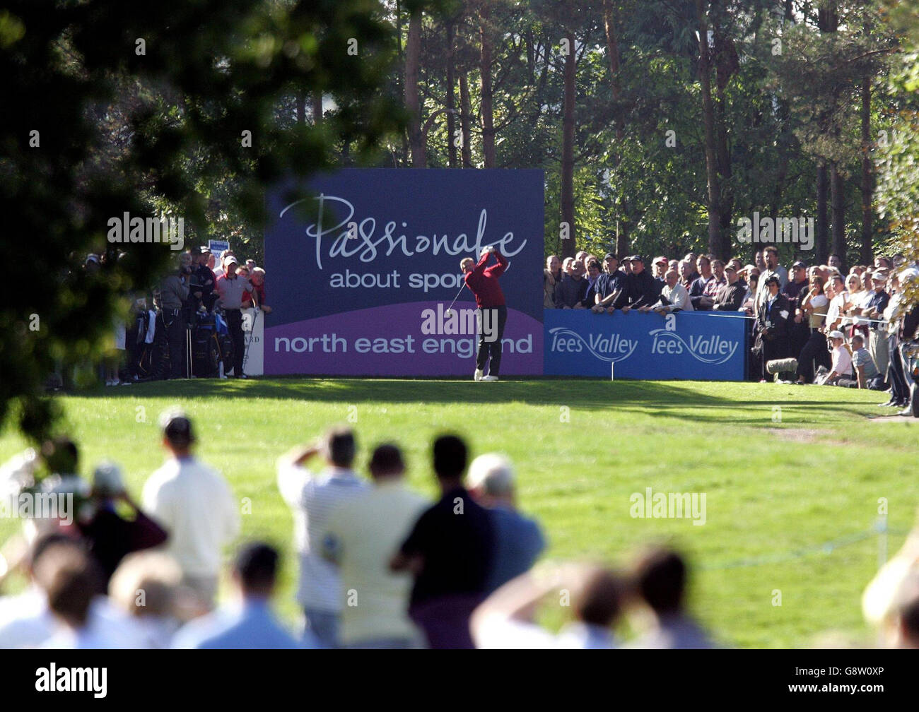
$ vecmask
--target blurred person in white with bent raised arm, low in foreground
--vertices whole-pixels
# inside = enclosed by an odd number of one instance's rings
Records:
[[[571,601],[562,600],[569,592]],[[524,573],[475,610],[472,636],[476,647],[486,650],[617,648],[612,627],[622,610],[622,594],[618,576],[595,566],[567,565],[548,575]],[[534,622],[542,601],[572,606],[574,620],[558,635]]]

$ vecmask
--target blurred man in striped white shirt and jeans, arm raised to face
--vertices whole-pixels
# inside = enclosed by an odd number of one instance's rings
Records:
[[[300,553],[297,601],[303,606],[307,630],[323,647],[338,647],[344,604],[338,570],[322,554],[329,514],[339,504],[367,490],[351,465],[357,444],[350,428],[335,428],[322,446],[298,446],[278,459],[278,489],[294,519],[294,543]],[[322,452],[328,467],[319,474],[302,467]]]

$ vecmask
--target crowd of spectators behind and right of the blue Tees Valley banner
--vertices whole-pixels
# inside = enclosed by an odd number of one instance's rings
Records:
[[[919,305],[903,292],[919,267],[905,264],[902,254],[847,273],[838,255],[827,263],[797,260],[789,275],[772,245],[747,265],[738,257],[661,255],[650,273],[638,254],[601,260],[579,252],[562,261],[553,254],[543,272],[543,305],[596,314],[735,312],[753,322],[751,379],[890,390],[887,405],[905,408],[912,380],[902,345],[916,338]]]

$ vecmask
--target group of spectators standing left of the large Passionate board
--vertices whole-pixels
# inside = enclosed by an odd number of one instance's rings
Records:
[[[105,255],[89,254],[84,269],[96,273],[104,262]],[[176,255],[174,271],[153,288],[125,295],[130,320],[115,320],[102,363],[90,368],[106,386],[216,377],[221,366],[227,378],[246,378],[243,314],[270,313],[265,277],[255,260],[240,262],[233,250],[221,254],[219,265],[207,246]],[[52,386],[72,385],[72,375],[61,370]]]

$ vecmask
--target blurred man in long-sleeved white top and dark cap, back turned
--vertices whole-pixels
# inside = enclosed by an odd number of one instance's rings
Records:
[[[165,413],[163,446],[169,453],[143,486],[143,509],[169,533],[165,551],[182,568],[182,582],[211,608],[221,551],[240,532],[233,492],[220,472],[191,456],[195,443],[184,413]]]

